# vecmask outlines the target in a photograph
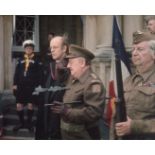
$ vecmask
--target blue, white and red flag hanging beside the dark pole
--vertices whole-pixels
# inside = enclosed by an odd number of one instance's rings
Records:
[[[129,74],[131,74],[131,69],[130,69],[130,60],[127,52],[125,51],[125,46],[123,43],[122,35],[119,30],[118,24],[116,17],[114,16],[113,18],[113,37],[112,37],[112,47],[115,51],[115,55],[121,60],[121,68],[123,70],[123,75],[119,75],[120,79],[122,81],[122,78],[126,78]],[[122,63],[123,62],[123,63]],[[121,71],[120,71],[121,73]],[[124,74],[125,73],[125,74]],[[116,84],[116,64],[115,64],[115,58],[112,55],[111,58],[111,72],[110,72],[110,81],[109,81],[109,101],[107,104],[107,111],[106,111],[106,120],[107,123],[110,125],[111,120],[113,116],[116,113],[116,97],[120,97],[119,94],[122,94],[119,90],[118,83]],[[117,79],[118,82],[118,79]],[[122,83],[119,81],[120,88],[122,87]],[[117,88],[117,89],[116,89]],[[122,88],[123,90],[123,88]]]

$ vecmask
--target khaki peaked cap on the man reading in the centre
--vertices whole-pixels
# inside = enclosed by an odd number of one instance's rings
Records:
[[[95,55],[88,49],[85,49],[78,45],[71,44],[69,46],[69,54],[66,56],[66,58],[72,59],[77,57],[83,57],[86,60],[92,60],[95,57]]]

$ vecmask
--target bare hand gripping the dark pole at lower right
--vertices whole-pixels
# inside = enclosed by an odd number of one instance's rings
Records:
[[[128,117],[126,122],[120,122],[115,124],[116,135],[124,136],[131,132],[131,119]]]

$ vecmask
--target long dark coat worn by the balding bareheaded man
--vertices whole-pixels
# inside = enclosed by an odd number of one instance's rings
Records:
[[[44,66],[44,80],[42,87],[64,87],[70,74],[66,66],[66,60],[60,62],[60,68],[58,69],[56,69],[55,61],[52,61],[48,65]],[[52,114],[50,106],[45,106],[45,104],[50,104],[53,101],[62,102],[63,95],[64,90],[40,94],[35,139],[61,139],[60,116],[57,114]]]

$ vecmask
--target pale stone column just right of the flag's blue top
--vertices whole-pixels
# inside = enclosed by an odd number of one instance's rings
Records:
[[[132,34],[136,30],[143,29],[143,16],[140,15],[126,15],[123,18],[123,38],[125,47],[130,50],[132,46]]]

